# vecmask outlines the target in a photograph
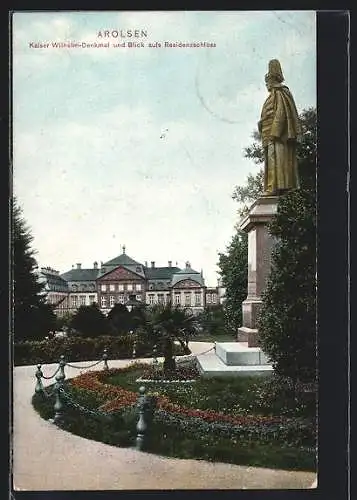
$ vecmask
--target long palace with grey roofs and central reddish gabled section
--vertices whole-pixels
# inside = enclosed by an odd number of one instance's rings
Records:
[[[221,302],[220,287],[206,287],[203,272],[194,270],[190,262],[183,269],[173,266],[172,261],[159,267],[152,261],[148,266],[129,257],[125,247],[121,255],[100,267],[97,262],[92,269],[76,264],[61,275],[51,269],[47,276],[47,301],[55,305],[59,315],[93,303],[108,314],[115,304],[125,305],[133,297],[146,306],[172,304],[192,314]]]

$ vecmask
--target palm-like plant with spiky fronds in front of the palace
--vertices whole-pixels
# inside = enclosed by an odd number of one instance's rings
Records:
[[[174,341],[189,353],[188,342],[197,331],[197,318],[178,306],[157,304],[146,311],[146,331],[153,342],[162,344],[164,372],[176,370]]]

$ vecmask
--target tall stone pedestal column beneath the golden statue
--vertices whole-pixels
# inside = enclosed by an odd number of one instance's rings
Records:
[[[258,198],[240,223],[240,229],[248,233],[248,295],[242,303],[243,325],[238,328],[237,340],[248,342],[248,347],[258,346],[257,316],[270,273],[274,244],[267,226],[276,214],[277,204],[277,196]]]

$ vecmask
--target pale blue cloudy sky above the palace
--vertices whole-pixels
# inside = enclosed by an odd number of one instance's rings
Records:
[[[39,266],[91,268],[125,245],[215,286],[232,193],[259,169],[244,148],[269,60],[299,112],[316,106],[315,12],[15,12],[12,33],[12,187]]]

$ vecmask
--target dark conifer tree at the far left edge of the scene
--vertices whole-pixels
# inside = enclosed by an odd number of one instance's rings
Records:
[[[33,236],[16,199],[12,200],[12,269],[14,340],[39,339],[52,328],[53,316],[45,307],[44,286],[36,275]],[[53,311],[52,311],[53,312]]]

